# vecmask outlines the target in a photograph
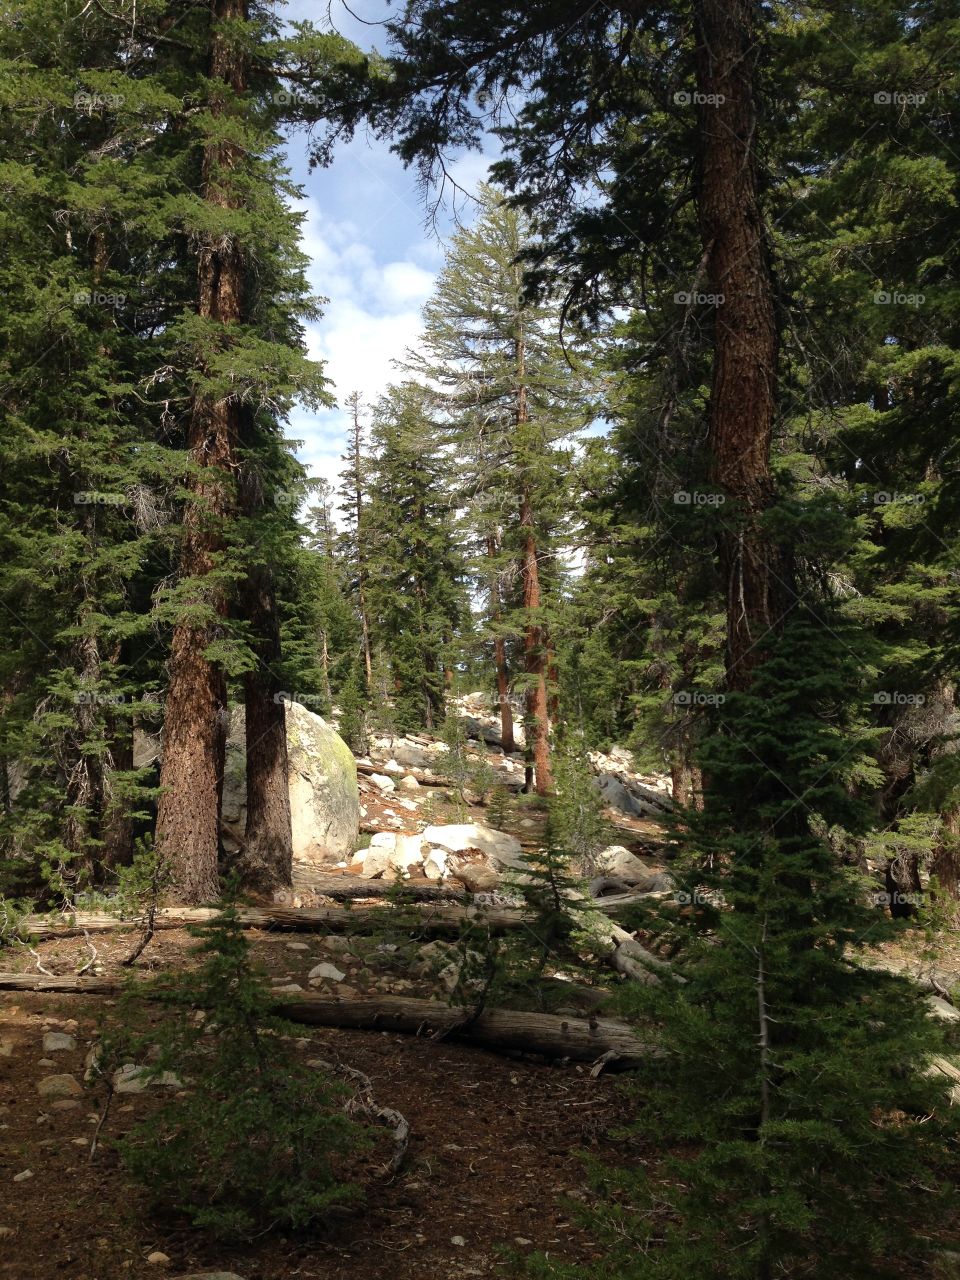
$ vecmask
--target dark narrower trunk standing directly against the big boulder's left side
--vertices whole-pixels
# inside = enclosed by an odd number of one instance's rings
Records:
[[[273,893],[293,884],[293,833],[287,763],[287,708],[280,698],[280,620],[273,573],[255,564],[243,591],[243,616],[257,666],[243,676],[247,818],[237,868],[246,888]]]

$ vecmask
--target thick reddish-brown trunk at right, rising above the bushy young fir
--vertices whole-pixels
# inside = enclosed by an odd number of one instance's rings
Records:
[[[717,307],[710,389],[712,481],[727,498],[719,535],[727,593],[727,681],[745,689],[788,604],[785,567],[760,521],[773,494],[777,321],[759,198],[758,8],[696,0],[699,220]]]

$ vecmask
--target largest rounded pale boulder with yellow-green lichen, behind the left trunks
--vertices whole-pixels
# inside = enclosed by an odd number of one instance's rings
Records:
[[[360,788],[353,753],[320,716],[287,703],[293,861],[320,867],[348,858],[360,832]],[[223,840],[228,852],[243,842],[246,822],[244,713],[236,707],[227,739]]]

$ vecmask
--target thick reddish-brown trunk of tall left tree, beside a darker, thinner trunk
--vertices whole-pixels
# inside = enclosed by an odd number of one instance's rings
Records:
[[[246,90],[246,59],[221,32],[221,23],[243,20],[247,0],[211,0],[210,79],[234,93]],[[210,111],[224,114],[225,93],[214,93]],[[211,142],[204,152],[202,195],[212,206],[236,209],[242,193],[230,175],[242,159],[236,143]],[[244,262],[230,237],[204,237],[197,262],[198,314],[223,325],[243,319]],[[239,406],[232,399],[197,396],[187,430],[187,449],[204,472],[191,480],[183,518],[180,576],[196,584],[195,598],[218,618],[228,603],[221,585],[211,582],[221,548],[218,524],[229,511],[228,477],[236,462]],[[207,581],[205,581],[205,579]],[[227,686],[220,669],[206,658],[218,623],[179,622],[170,646],[169,687],[164,713],[164,751],[157,805],[157,850],[166,863],[174,895],[183,902],[219,896],[218,851],[225,744]]]

